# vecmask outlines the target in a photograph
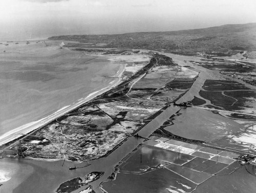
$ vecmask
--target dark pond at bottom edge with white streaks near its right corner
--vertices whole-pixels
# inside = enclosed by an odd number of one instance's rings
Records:
[[[197,184],[174,173],[160,168],[143,175],[118,173],[115,181],[103,183],[102,187],[111,193],[130,192],[191,192]]]

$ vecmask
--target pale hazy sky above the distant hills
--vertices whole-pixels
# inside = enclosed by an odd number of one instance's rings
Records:
[[[256,23],[255,0],[1,0],[0,39]]]

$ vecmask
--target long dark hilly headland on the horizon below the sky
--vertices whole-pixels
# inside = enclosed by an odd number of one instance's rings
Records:
[[[50,37],[49,40],[74,40],[93,47],[149,49],[182,55],[197,52],[230,55],[256,50],[256,23],[169,32],[65,35]]]

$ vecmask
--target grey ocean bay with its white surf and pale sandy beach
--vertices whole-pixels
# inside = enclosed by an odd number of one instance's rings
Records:
[[[58,41],[0,46],[0,145],[51,122],[120,83],[122,74],[148,61],[137,55],[87,55],[59,49]],[[22,45],[23,44],[23,45]],[[6,52],[1,53],[1,49]],[[84,97],[86,96],[86,97]],[[6,103],[8,101],[8,103]],[[20,126],[21,125],[21,126]]]

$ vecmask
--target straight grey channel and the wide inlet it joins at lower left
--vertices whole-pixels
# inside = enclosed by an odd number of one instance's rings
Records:
[[[169,54],[168,54],[169,55]],[[181,57],[181,56],[179,56]],[[186,57],[187,58],[187,57]],[[188,59],[188,58],[187,58]],[[187,65],[187,64],[186,64]],[[187,92],[179,101],[187,101],[193,99],[194,95],[201,88],[201,78],[204,80],[205,74],[199,76],[199,80],[193,84],[193,88],[190,92]],[[195,93],[194,93],[195,92]],[[163,125],[164,121],[169,119],[170,116],[178,112],[180,108],[178,106],[170,105],[166,110],[157,116],[150,123],[146,124],[139,132],[138,135],[142,137],[150,136],[159,126]],[[194,116],[201,116],[195,111]],[[183,116],[183,120],[186,121],[186,114]],[[200,124],[207,126],[207,120],[204,119]],[[191,125],[193,126],[193,125]],[[104,171],[104,175],[90,185],[93,189],[100,193],[99,184],[100,182],[106,180],[113,170],[114,166],[122,160],[125,156],[133,151],[140,143],[142,143],[142,138],[130,137],[124,143],[122,143],[113,153],[108,157],[100,158],[91,161],[91,165],[83,167],[76,170],[69,170],[69,167],[76,166],[82,167],[85,163],[75,163],[63,160],[46,162],[39,160],[26,160],[26,159],[0,159],[0,166],[3,171],[6,172],[7,178],[10,178],[1,188],[2,192],[55,192],[58,186],[72,178],[81,177],[90,173],[91,171]],[[11,165],[15,167],[11,167]],[[85,187],[81,187],[74,191],[77,193]]]

